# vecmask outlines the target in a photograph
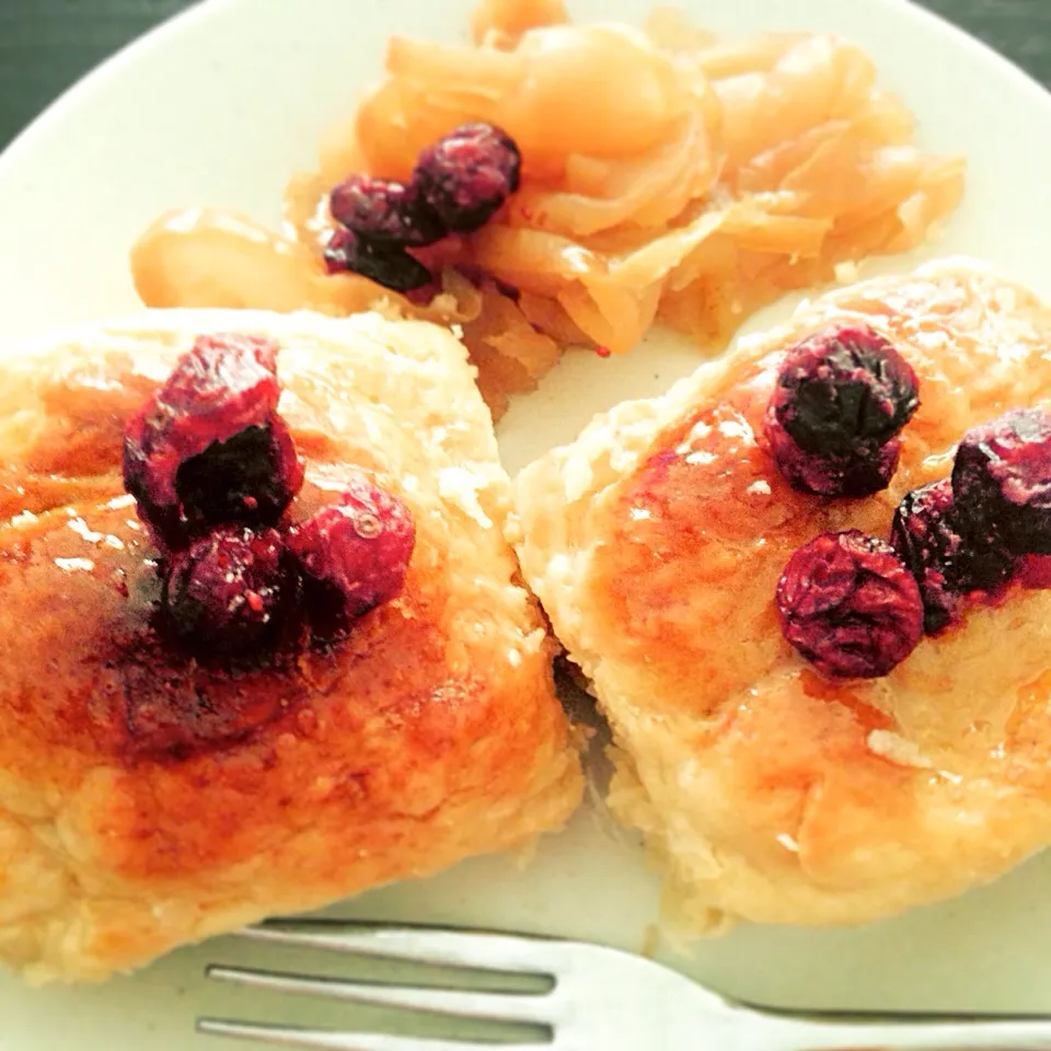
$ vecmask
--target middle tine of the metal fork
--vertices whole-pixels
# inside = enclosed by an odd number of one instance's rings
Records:
[[[305,978],[238,967],[209,967],[208,978],[272,993],[321,996],[370,1006],[403,1007],[430,1014],[458,1015],[488,1021],[545,1025],[544,993],[476,993],[466,990],[420,989],[377,982],[349,982],[335,978]]]

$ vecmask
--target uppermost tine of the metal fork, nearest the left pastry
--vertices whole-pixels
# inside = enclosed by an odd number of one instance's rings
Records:
[[[444,927],[383,926],[347,920],[267,920],[239,936],[299,948],[357,952],[438,967],[469,967],[554,978],[559,943]]]

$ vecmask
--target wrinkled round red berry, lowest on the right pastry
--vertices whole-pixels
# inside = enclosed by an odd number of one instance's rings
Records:
[[[886,675],[923,637],[920,588],[894,550],[857,530],[800,547],[777,582],[785,638],[834,679]]]

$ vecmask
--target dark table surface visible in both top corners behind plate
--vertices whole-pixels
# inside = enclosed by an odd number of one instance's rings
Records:
[[[0,0],[0,149],[94,65],[192,2]],[[917,2],[986,41],[1051,86],[1051,0]]]

